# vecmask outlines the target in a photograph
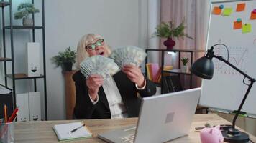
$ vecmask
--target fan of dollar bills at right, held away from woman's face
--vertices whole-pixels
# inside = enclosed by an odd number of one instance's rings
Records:
[[[110,55],[111,59],[114,59],[116,64],[122,69],[122,66],[132,64],[134,66],[140,66],[142,61],[146,58],[147,54],[142,49],[136,46],[124,46],[119,49],[115,49]]]

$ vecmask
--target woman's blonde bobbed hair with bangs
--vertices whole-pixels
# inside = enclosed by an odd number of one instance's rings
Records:
[[[91,44],[94,39],[103,39],[101,35],[98,34],[86,34],[82,36],[80,41],[78,42],[78,47],[77,47],[77,56],[76,56],[76,68],[80,69],[80,63],[89,57],[88,52],[86,51],[85,47],[88,44]],[[104,48],[106,49],[106,55],[109,56],[111,54],[111,49],[110,47],[104,42]]]

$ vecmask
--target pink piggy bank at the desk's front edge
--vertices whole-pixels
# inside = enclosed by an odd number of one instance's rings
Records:
[[[200,132],[200,138],[202,143],[219,143],[224,140],[219,126],[205,127]]]

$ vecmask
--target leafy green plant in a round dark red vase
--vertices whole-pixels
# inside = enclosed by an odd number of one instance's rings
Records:
[[[172,50],[173,46],[175,46],[175,41],[173,41],[173,38],[178,39],[185,36],[188,39],[193,39],[191,36],[184,33],[185,28],[186,26],[184,26],[184,20],[178,26],[175,26],[173,21],[161,22],[160,25],[155,28],[156,31],[154,35],[160,38],[167,38],[163,44],[167,46],[168,50]]]

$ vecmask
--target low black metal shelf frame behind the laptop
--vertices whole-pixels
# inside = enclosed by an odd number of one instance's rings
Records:
[[[178,49],[173,49],[173,50],[167,50],[167,49],[146,49],[146,53],[148,54],[149,51],[158,51],[161,53],[161,62],[160,62],[160,67],[161,69],[161,78],[163,79],[163,73],[170,73],[170,74],[178,74],[180,77],[180,74],[185,74],[190,76],[190,88],[192,87],[192,73],[190,71],[184,72],[180,69],[180,54],[182,52],[184,53],[190,53],[191,54],[191,65],[193,64],[193,54],[195,52],[204,52],[204,50],[178,50]],[[165,52],[175,52],[178,53],[178,69],[172,69],[165,71],[163,70],[163,66],[165,64]],[[145,62],[147,63],[147,58],[145,59]],[[147,70],[145,70],[145,74],[147,75]],[[163,87],[163,80],[161,79],[161,84],[160,86]],[[161,90],[161,93],[163,93],[163,90]]]

